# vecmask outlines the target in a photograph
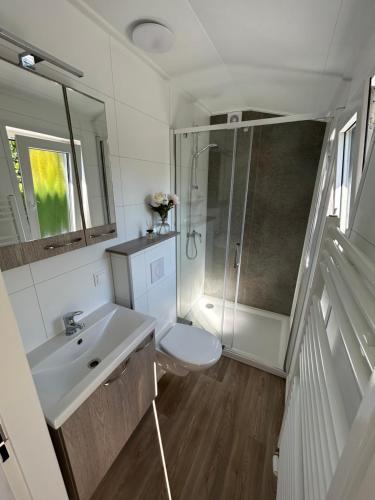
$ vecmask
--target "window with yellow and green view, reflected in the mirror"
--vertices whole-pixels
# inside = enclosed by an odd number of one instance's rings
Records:
[[[69,139],[8,126],[6,131],[31,237],[75,231],[80,214]]]

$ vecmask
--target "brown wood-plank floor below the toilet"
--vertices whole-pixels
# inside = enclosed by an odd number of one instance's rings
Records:
[[[284,390],[283,379],[228,358],[165,375],[156,404],[173,500],[274,500]],[[93,500],[167,499],[149,411]]]

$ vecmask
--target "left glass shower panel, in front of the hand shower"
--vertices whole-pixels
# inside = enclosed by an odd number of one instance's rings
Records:
[[[234,130],[176,137],[177,315],[220,339],[235,144]]]

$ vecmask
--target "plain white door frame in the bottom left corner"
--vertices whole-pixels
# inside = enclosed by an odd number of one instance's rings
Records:
[[[0,467],[17,500],[68,500],[1,270],[0,317],[0,415],[9,452]]]

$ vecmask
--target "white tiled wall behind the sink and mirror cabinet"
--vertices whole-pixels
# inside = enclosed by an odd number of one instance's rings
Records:
[[[84,78],[57,75],[105,101],[119,237],[65,255],[6,271],[4,278],[27,351],[63,329],[61,316],[89,313],[113,299],[104,249],[144,234],[150,214],[145,196],[169,191],[170,127],[203,123],[200,110],[118,40],[66,0],[3,0],[2,27],[75,65]],[[0,53],[9,53],[0,45]],[[46,70],[47,71],[47,70]],[[93,273],[103,271],[94,287]]]

